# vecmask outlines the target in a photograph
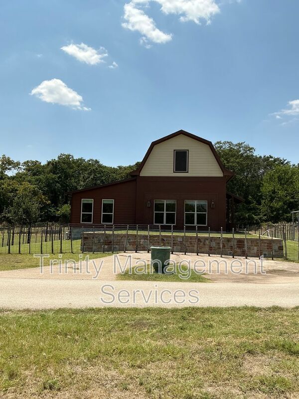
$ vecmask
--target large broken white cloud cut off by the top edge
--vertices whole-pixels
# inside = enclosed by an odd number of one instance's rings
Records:
[[[142,6],[149,6],[150,1],[160,4],[164,14],[180,15],[179,19],[182,22],[200,23],[200,20],[205,20],[209,24],[211,17],[220,12],[215,0],[131,0],[124,6],[124,18],[127,22],[122,25],[127,29],[139,31],[143,35],[143,44],[147,44],[148,40],[166,43],[172,39],[172,34],[159,30],[154,20],[142,9]]]

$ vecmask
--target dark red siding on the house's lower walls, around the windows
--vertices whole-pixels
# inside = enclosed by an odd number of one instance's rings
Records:
[[[208,225],[200,230],[225,229],[226,178],[221,177],[140,177],[72,194],[71,223],[80,223],[81,199],[94,200],[93,224],[101,223],[102,200],[114,200],[115,224],[153,224],[154,200],[176,200],[177,230],[184,226],[184,200],[208,201]],[[150,200],[151,206],[147,206]],[[215,207],[211,208],[212,200]],[[188,226],[188,229],[192,228]]]

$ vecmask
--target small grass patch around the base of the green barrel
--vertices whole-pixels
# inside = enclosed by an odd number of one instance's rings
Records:
[[[142,274],[137,274],[142,273]],[[155,273],[150,265],[147,265],[146,270],[144,270],[143,266],[135,266],[132,267],[132,272],[130,270],[126,270],[124,273],[120,273],[117,275],[118,280],[139,280],[139,281],[179,281],[179,282],[188,282],[188,283],[210,283],[211,280],[203,277],[200,274],[194,272],[194,270],[190,270],[187,266],[181,266],[178,269],[176,268],[176,273],[173,274],[160,274]]]

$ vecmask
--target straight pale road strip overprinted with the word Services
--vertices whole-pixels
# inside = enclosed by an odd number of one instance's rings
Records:
[[[299,284],[156,283],[115,280],[103,282],[15,278],[0,280],[0,307],[6,309],[244,305],[299,306]]]

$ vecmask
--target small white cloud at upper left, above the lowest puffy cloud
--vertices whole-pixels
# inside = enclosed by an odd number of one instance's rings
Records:
[[[67,54],[72,55],[77,60],[85,62],[89,65],[100,64],[105,62],[104,58],[108,56],[108,52],[104,47],[96,50],[93,47],[89,47],[87,44],[69,44],[68,46],[61,47],[61,50]]]

